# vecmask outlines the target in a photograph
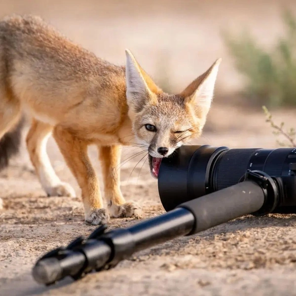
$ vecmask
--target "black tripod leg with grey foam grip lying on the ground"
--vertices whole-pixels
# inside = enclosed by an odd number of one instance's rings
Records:
[[[159,217],[109,232],[102,225],[88,238],[78,237],[67,247],[40,258],[33,268],[33,277],[45,285],[67,276],[77,280],[89,272],[115,267],[137,251],[176,237],[246,214],[265,215],[278,205],[278,189],[276,181],[266,173],[249,170],[238,184],[187,201]]]

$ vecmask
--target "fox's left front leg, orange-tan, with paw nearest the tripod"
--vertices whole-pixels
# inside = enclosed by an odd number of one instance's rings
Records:
[[[87,142],[60,126],[54,128],[53,137],[81,188],[85,221],[92,225],[108,223],[109,215],[103,208],[96,172],[87,155]]]

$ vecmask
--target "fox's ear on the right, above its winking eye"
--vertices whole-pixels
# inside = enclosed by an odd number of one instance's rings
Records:
[[[218,74],[219,65],[222,59],[218,59],[203,74],[192,81],[180,94],[188,103],[194,104],[203,115],[207,115],[210,110],[214,96],[214,87]]]

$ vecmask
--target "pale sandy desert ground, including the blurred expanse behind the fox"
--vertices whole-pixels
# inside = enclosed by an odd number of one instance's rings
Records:
[[[2,0],[0,14],[39,14],[112,62],[123,63],[124,48],[129,47],[148,73],[159,78],[156,58],[163,50],[169,57],[167,79],[178,89],[222,56],[217,100],[205,133],[192,144],[276,148],[260,109],[239,108],[239,97],[235,101],[225,95],[240,89],[242,80],[219,33],[224,27],[247,26],[262,43],[271,44],[283,32],[280,8],[285,4],[296,10],[293,0]],[[276,122],[296,127],[295,112],[274,111],[273,115]],[[24,137],[26,133],[27,129]],[[156,245],[80,281],[38,285],[31,270],[39,256],[95,229],[83,222],[80,190],[52,138],[47,149],[57,174],[75,188],[77,197],[46,197],[25,147],[0,173],[4,206],[0,211],[0,296],[296,295],[296,215],[242,217]],[[122,161],[137,152],[133,149],[122,149]],[[89,153],[101,179],[96,149],[91,147]],[[127,200],[142,204],[142,219],[147,219],[164,210],[157,181],[150,177],[147,163],[137,165],[140,159],[122,166],[121,188]],[[138,222],[113,219],[110,228]]]

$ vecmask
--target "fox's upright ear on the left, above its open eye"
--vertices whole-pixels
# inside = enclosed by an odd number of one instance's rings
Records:
[[[153,82],[149,75],[141,68],[130,50],[126,54],[126,97],[129,106],[141,111],[147,101],[155,100],[161,89]]]

